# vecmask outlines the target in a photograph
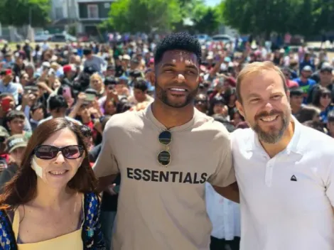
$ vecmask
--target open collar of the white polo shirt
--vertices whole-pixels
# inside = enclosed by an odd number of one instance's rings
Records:
[[[286,149],[284,150],[287,154],[296,153],[296,154],[302,154],[301,153],[301,147],[300,147],[300,138],[301,138],[301,130],[302,126],[299,121],[294,116],[291,116],[291,119],[294,124],[294,131],[293,136],[291,138],[291,141],[289,142],[288,146],[286,146]],[[257,136],[257,133],[252,131],[253,136],[249,140],[249,143],[247,143],[247,151],[259,151],[259,149],[264,150],[261,143],[259,142],[259,136]]]

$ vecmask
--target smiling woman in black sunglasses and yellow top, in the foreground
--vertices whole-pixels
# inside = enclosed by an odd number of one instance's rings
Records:
[[[96,178],[80,127],[50,119],[0,196],[0,249],[105,249]]]

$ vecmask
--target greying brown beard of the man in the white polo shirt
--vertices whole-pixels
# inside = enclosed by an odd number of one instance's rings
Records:
[[[278,114],[279,117],[277,119],[281,119],[281,127],[277,130],[273,131],[264,131],[262,130],[261,126],[259,126],[259,119],[263,116],[272,116]],[[290,121],[290,115],[285,114],[284,112],[279,112],[276,110],[272,110],[271,112],[262,112],[261,114],[258,114],[255,116],[255,122],[252,126],[252,129],[257,133],[259,136],[259,141],[263,141],[264,143],[274,144],[281,140],[281,138],[284,136],[284,132],[289,126]]]

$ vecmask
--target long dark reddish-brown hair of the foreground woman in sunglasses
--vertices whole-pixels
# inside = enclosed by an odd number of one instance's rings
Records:
[[[85,148],[85,157],[75,176],[68,182],[68,188],[77,192],[95,192],[97,194],[97,178],[88,160],[88,151],[84,138],[80,133],[80,125],[64,118],[50,119],[39,125],[33,132],[24,152],[21,166],[14,177],[6,183],[4,192],[0,195],[0,209],[11,209],[26,204],[36,197],[37,175],[31,168],[31,161],[36,146],[43,144],[55,132],[70,129],[77,136],[77,144]]]

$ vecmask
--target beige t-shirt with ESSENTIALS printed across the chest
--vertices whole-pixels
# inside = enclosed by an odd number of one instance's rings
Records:
[[[98,177],[121,173],[116,250],[210,248],[205,182],[221,187],[235,182],[230,136],[195,109],[191,121],[170,129],[171,163],[165,168],[157,160],[165,149],[158,134],[165,129],[151,105],[107,122],[94,171]]]

